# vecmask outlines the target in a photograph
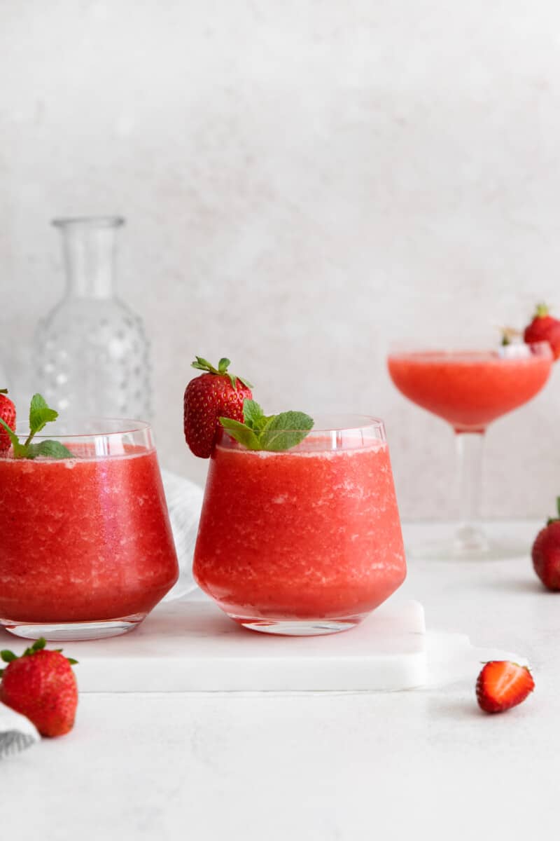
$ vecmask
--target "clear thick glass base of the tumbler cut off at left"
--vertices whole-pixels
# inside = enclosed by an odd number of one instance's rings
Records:
[[[123,616],[120,619],[107,619],[91,622],[19,622],[0,619],[0,626],[14,637],[39,639],[44,637],[53,643],[79,642],[86,639],[105,639],[119,637],[138,627],[146,618],[145,613]]]

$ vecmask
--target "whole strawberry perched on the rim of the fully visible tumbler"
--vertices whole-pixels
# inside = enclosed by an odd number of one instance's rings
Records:
[[[228,373],[229,359],[220,359],[217,368],[201,357],[193,368],[206,371],[191,379],[185,389],[185,440],[199,458],[209,458],[220,428],[218,418],[243,423],[243,400],[252,399],[251,383]]]

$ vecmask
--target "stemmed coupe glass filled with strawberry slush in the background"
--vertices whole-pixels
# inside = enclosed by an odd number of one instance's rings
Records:
[[[416,405],[447,421],[457,442],[460,523],[453,539],[413,547],[433,558],[501,558],[526,553],[526,545],[490,543],[480,526],[482,446],[490,423],[524,405],[551,373],[547,341],[492,351],[395,351],[390,377]]]

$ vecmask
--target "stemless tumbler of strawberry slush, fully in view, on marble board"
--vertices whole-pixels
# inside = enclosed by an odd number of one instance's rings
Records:
[[[212,452],[194,574],[233,620],[294,636],[357,625],[406,576],[381,421],[317,421],[295,447]]]

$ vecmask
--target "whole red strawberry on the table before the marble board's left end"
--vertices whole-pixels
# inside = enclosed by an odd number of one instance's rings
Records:
[[[63,736],[76,717],[78,688],[72,665],[60,651],[47,651],[43,638],[21,657],[0,652],[8,663],[0,674],[0,701],[27,716],[43,736]]]

